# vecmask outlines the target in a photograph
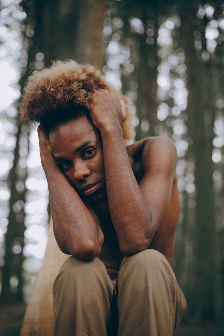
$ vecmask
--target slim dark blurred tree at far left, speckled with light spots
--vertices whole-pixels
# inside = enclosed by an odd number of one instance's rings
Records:
[[[24,8],[29,12],[29,8]],[[33,17],[29,16],[27,20],[27,25],[29,26],[30,22],[33,21]],[[22,31],[23,26],[19,26],[21,33],[26,34],[26,30],[29,27],[25,27]],[[23,43],[24,48],[26,49],[27,43],[26,37],[24,37]],[[28,64],[31,60],[34,59],[33,50],[29,54]],[[25,80],[29,75],[30,69],[27,68],[26,74],[20,79],[20,86],[23,88]],[[17,104],[18,105],[18,104]],[[23,256],[23,246],[24,246],[24,232],[25,232],[25,213],[24,213],[24,204],[25,204],[25,194],[26,187],[25,181],[27,178],[27,169],[25,167],[20,167],[21,158],[27,158],[22,156],[20,153],[21,149],[27,149],[28,153],[28,130],[26,127],[23,127],[19,121],[19,117],[16,117],[17,124],[17,134],[16,134],[16,145],[14,149],[14,160],[12,168],[9,171],[8,180],[11,183],[11,196],[9,200],[9,216],[8,216],[8,227],[5,238],[5,264],[2,267],[2,290],[1,290],[1,303],[14,303],[14,302],[23,302],[23,277],[22,277],[22,263],[24,261]],[[24,144],[27,143],[27,145]],[[20,152],[21,151],[21,152]],[[16,185],[20,184],[20,187]],[[24,185],[24,188],[21,187]],[[17,281],[17,286],[11,286],[10,280],[13,279]]]

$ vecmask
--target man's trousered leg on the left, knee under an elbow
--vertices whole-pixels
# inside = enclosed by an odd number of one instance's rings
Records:
[[[53,286],[53,335],[107,335],[114,292],[106,267],[98,258],[66,259]]]

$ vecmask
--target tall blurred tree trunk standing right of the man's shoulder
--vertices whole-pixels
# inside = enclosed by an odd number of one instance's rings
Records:
[[[205,110],[209,106],[208,72],[195,57],[192,6],[182,16],[183,46],[186,55],[189,135],[193,139],[196,185],[196,223],[194,251],[194,295],[189,314],[196,323],[214,320],[215,292],[215,213],[213,194],[212,139],[205,134]]]

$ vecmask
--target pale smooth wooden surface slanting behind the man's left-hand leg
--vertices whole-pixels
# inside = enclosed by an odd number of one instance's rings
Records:
[[[45,257],[26,308],[20,336],[52,335],[53,283],[63,261],[68,257],[60,251],[55,241],[51,219]]]

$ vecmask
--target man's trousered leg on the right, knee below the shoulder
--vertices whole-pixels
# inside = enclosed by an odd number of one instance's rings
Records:
[[[167,259],[147,249],[124,257],[118,278],[118,336],[173,335],[186,300]]]

